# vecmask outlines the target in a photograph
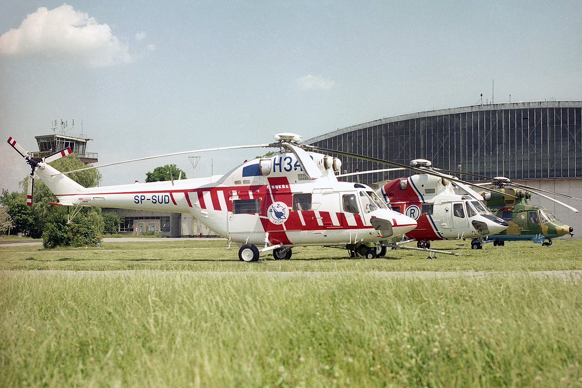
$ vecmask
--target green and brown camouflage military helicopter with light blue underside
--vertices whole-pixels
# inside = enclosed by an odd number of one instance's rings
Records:
[[[573,235],[574,228],[560,222],[549,209],[528,203],[528,200],[531,198],[531,193],[534,193],[554,201],[573,212],[578,212],[576,208],[539,192],[549,193],[548,191],[513,183],[505,177],[496,177],[492,182],[481,183],[480,186],[495,187],[497,190],[495,192],[485,190],[479,194],[484,198],[485,205],[496,216],[509,223],[508,229],[497,234],[492,234],[491,236],[483,237],[484,243],[493,242],[495,246],[503,246],[505,245],[505,241],[531,240],[534,243],[549,246],[552,245],[552,239],[556,237],[565,236],[566,234]],[[500,194],[499,191],[503,194]],[[560,195],[571,200],[582,201],[579,198],[570,197],[569,195],[551,194]]]

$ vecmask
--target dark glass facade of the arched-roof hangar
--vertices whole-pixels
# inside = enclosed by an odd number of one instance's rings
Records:
[[[396,116],[347,127],[306,143],[410,165],[428,159],[435,168],[509,179],[582,177],[582,101],[475,105]],[[388,166],[342,159],[345,172]],[[460,165],[460,169],[459,169]],[[460,171],[460,172],[459,172]],[[362,183],[410,175],[362,175]],[[349,180],[356,180],[349,178]]]

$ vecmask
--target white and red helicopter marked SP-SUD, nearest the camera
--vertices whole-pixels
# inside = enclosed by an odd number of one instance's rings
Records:
[[[271,144],[150,157],[235,148],[279,148],[278,154],[245,162],[223,176],[90,188],[80,186],[66,173],[48,165],[49,161],[68,155],[70,149],[35,159],[12,137],[8,143],[31,166],[29,205],[34,178],[38,177],[58,198],[56,205],[74,207],[72,217],[85,206],[191,213],[205,226],[239,245],[241,261],[257,261],[261,252],[271,250],[276,259],[289,259],[292,247],[307,245],[346,247],[352,254],[374,258],[386,252],[379,241],[408,233],[417,226],[413,218],[389,209],[370,187],[338,181],[335,176],[341,166],[338,158],[305,151],[299,144],[301,137],[296,134],[281,133],[274,139]]]

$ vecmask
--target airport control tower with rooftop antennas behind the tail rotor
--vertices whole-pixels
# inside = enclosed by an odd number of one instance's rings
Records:
[[[97,163],[98,154],[97,152],[87,152],[87,143],[93,141],[93,139],[88,138],[83,135],[83,125],[81,122],[81,134],[79,137],[69,136],[67,131],[72,130],[74,127],[74,120],[72,121],[72,126],[69,128],[66,121],[61,120],[61,129],[57,134],[58,120],[52,122],[53,134],[35,136],[38,143],[38,152],[33,152],[33,158],[44,158],[44,156],[51,155],[56,151],[61,151],[61,149],[66,149],[70,147],[73,152],[79,155],[81,162]]]

